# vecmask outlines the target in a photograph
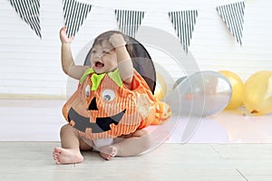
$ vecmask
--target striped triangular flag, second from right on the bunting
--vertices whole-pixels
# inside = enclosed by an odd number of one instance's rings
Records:
[[[180,38],[180,43],[183,46],[183,50],[188,52],[189,41],[198,17],[198,10],[169,12],[169,16],[170,21]]]

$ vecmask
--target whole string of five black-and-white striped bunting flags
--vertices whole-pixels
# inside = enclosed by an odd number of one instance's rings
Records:
[[[15,8],[15,12],[20,15],[26,24],[34,30],[36,35],[42,39],[40,25],[40,0],[7,0]],[[67,35],[75,36],[83,22],[91,13],[90,5],[77,0],[63,0],[63,19],[67,26]],[[105,7],[108,8],[108,7]],[[108,8],[111,9],[111,8]],[[111,9],[115,13],[117,25],[121,31],[128,36],[135,38],[142,20],[144,11]],[[244,24],[245,1],[216,7],[219,16],[227,25],[230,33],[236,41],[242,45],[242,31]],[[168,12],[170,22],[173,25],[177,36],[180,39],[185,52],[189,51],[190,40],[194,31],[194,26],[198,18],[198,10],[182,10]]]

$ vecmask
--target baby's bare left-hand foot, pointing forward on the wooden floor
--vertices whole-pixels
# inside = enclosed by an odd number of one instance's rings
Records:
[[[53,159],[56,164],[75,164],[83,162],[83,155],[75,149],[54,148]]]

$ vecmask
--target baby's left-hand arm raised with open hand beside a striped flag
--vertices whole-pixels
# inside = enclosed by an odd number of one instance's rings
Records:
[[[70,44],[73,41],[73,36],[68,37],[66,34],[66,29],[67,29],[66,27],[63,27],[60,30],[60,39],[62,42],[63,71],[70,77],[73,77],[76,80],[80,80],[83,75],[83,72],[86,71],[88,67],[82,65],[74,65],[73,55],[70,46]]]

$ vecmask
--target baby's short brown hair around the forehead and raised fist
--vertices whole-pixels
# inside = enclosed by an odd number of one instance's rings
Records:
[[[98,35],[94,39],[94,41],[92,43],[92,48],[93,48],[93,46],[95,44],[102,44],[102,41],[104,41],[104,40],[109,41],[109,39],[110,39],[110,37],[112,36],[113,33],[119,33],[119,34],[122,35],[124,41],[126,42],[127,51],[129,52],[131,57],[134,57],[135,56],[134,48],[133,48],[133,44],[130,41],[130,38],[128,36],[124,35],[123,33],[118,32],[118,31],[108,31],[108,32],[101,33],[100,35]],[[91,50],[92,50],[92,48],[91,48]]]

